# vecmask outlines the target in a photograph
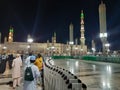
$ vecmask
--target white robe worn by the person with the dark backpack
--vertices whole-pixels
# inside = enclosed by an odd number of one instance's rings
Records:
[[[32,68],[32,73],[33,73],[33,77],[34,80],[33,81],[25,81],[24,80],[24,85],[23,85],[23,90],[37,90],[37,78],[40,76],[40,72],[37,66],[35,66],[34,64],[30,64],[31,68]],[[26,69],[26,67],[25,67]]]

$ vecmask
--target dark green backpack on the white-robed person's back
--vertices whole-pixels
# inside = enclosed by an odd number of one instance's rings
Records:
[[[31,67],[26,67],[26,69],[25,69],[25,75],[24,75],[24,80],[25,81],[33,81],[34,80]]]

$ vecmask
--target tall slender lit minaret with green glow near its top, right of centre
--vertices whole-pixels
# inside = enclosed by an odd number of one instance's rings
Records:
[[[83,49],[83,47],[85,46],[85,37],[84,37],[84,13],[83,10],[81,10],[81,28],[80,28],[80,32],[81,32],[81,37],[80,37],[80,42],[81,42],[81,49]]]

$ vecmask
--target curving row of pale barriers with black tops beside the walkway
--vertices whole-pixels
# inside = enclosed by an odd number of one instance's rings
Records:
[[[44,90],[87,90],[87,86],[70,71],[44,62]]]

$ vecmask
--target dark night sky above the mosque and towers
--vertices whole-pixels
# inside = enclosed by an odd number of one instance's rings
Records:
[[[74,39],[80,39],[80,12],[85,14],[86,45],[91,48],[99,38],[98,6],[101,0],[0,0],[0,32],[2,42],[14,28],[14,41],[26,42],[27,35],[34,42],[46,42],[56,32],[57,42],[69,41],[69,24],[74,25]],[[111,50],[120,50],[120,0],[103,0],[107,10],[107,32]]]

